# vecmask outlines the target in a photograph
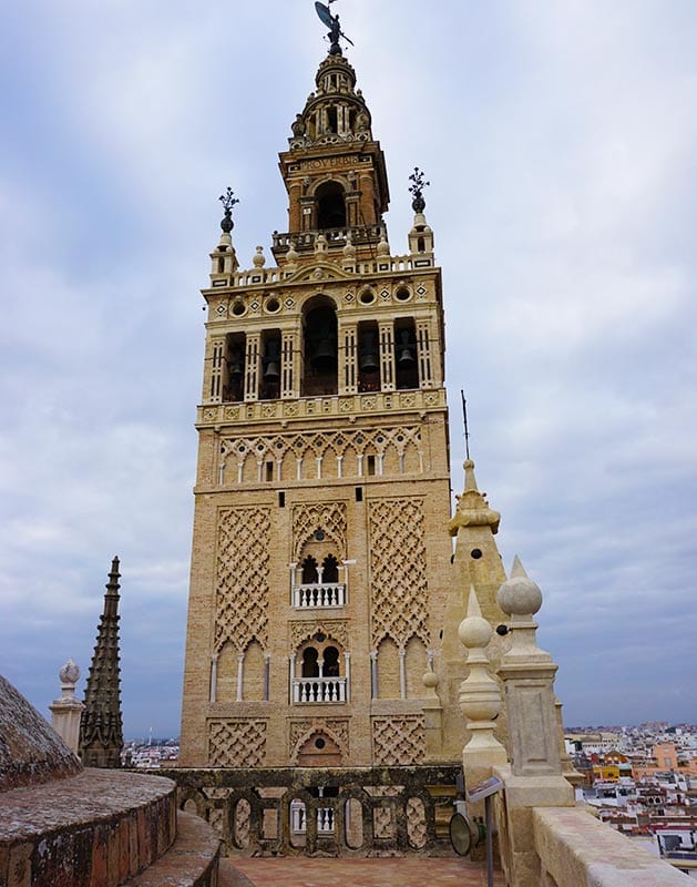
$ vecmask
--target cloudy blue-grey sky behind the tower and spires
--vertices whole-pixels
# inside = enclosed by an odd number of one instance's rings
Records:
[[[127,736],[178,733],[208,252],[286,230],[311,0],[0,9],[0,673],[44,714],[122,559]],[[545,595],[572,724],[697,722],[697,4],[341,0],[393,253],[431,181],[453,486]],[[84,681],[79,691],[82,693]]]

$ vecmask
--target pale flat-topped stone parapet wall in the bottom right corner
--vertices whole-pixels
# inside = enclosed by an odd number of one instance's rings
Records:
[[[688,887],[694,881],[588,813],[536,807],[541,887]]]

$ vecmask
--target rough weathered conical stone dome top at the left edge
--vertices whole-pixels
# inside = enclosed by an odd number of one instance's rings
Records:
[[[0,792],[73,776],[80,769],[61,737],[0,675]]]

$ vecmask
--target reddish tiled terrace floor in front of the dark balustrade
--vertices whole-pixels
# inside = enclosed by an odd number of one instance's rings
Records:
[[[486,887],[486,866],[460,858],[223,859],[221,887]],[[496,887],[503,877],[496,871]]]

